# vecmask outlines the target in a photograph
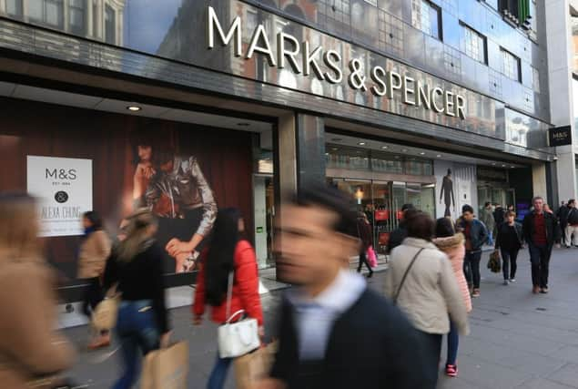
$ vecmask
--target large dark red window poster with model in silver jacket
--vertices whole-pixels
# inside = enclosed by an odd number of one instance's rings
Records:
[[[0,175],[0,190],[39,199],[46,260],[70,284],[86,210],[101,215],[113,243],[129,215],[152,211],[167,273],[192,270],[187,259],[208,248],[220,208],[237,208],[254,230],[251,132],[16,100],[5,100],[3,120],[11,174]],[[171,255],[169,241],[183,250]]]

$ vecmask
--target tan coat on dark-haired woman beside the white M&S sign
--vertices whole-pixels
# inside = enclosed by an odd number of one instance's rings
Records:
[[[78,278],[100,277],[105,271],[106,259],[110,255],[110,239],[103,230],[88,235],[80,245],[78,254]]]

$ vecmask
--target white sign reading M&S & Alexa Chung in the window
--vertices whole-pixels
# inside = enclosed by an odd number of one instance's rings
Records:
[[[82,235],[92,210],[92,160],[27,156],[26,190],[38,200],[40,236]]]

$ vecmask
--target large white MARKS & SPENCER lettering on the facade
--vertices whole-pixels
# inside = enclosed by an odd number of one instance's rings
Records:
[[[209,5],[208,49],[214,49],[217,42],[221,46],[230,44],[234,56],[250,60],[255,53],[259,53],[267,59],[269,67],[277,67],[279,71],[289,64],[294,74],[315,77],[319,82],[340,84],[347,78],[347,84],[353,90],[401,100],[408,106],[423,107],[449,117],[466,118],[466,99],[459,93],[422,82],[407,73],[401,75],[393,69],[386,70],[385,65],[366,67],[365,62],[357,57],[344,63],[338,50],[327,49],[320,44],[312,46],[308,40],[299,42],[295,36],[283,31],[277,33],[277,42],[273,45],[269,32],[262,24],[254,27],[248,46],[244,47],[242,34],[246,29],[243,27],[241,17],[236,16],[225,31],[215,9]]]

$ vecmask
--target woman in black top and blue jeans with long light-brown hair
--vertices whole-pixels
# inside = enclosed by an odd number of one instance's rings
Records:
[[[121,293],[117,333],[124,372],[114,389],[137,382],[140,355],[168,343],[168,313],[163,283],[163,249],[154,240],[157,220],[148,210],[127,218],[126,238],[106,261],[105,288]]]

